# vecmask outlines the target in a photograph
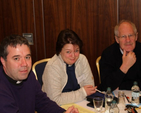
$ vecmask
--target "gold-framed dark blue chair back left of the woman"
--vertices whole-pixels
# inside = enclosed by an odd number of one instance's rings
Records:
[[[44,68],[46,66],[46,63],[49,60],[50,60],[50,58],[39,60],[39,61],[35,62],[32,66],[32,71],[34,72],[35,77],[39,81],[41,86],[43,85],[42,75],[43,75],[43,72],[44,72]]]

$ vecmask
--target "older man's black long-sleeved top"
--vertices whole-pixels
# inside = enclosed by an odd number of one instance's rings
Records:
[[[141,43],[136,42],[134,49],[136,63],[124,74],[119,68],[122,64],[122,53],[116,42],[106,48],[100,60],[101,84],[98,89],[106,91],[107,87],[115,90],[131,90],[133,82],[137,81],[141,89]]]

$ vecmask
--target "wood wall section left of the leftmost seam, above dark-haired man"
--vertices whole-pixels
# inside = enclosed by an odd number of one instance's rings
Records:
[[[33,0],[0,0],[0,7],[0,41],[11,34],[34,36]],[[34,53],[34,46],[31,50]]]

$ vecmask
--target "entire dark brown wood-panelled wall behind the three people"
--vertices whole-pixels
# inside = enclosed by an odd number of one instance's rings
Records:
[[[7,35],[33,33],[33,63],[55,54],[59,32],[74,30],[83,40],[95,83],[95,60],[114,42],[114,26],[121,19],[133,21],[141,32],[140,0],[0,0],[0,41]]]

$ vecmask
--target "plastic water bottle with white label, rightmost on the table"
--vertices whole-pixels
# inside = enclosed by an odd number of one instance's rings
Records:
[[[139,94],[140,94],[140,88],[138,86],[138,83],[135,81],[134,85],[131,88],[132,91],[132,104],[139,104]]]

